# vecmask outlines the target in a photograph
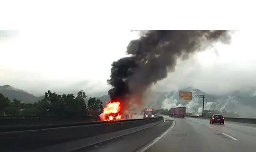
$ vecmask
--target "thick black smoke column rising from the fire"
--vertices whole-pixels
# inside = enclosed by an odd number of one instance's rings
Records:
[[[127,47],[130,57],[113,62],[108,83],[112,100],[136,103],[147,88],[174,71],[177,58],[186,59],[195,51],[203,51],[212,42],[229,42],[226,30],[152,30],[142,33]],[[140,104],[140,103],[139,103]]]

